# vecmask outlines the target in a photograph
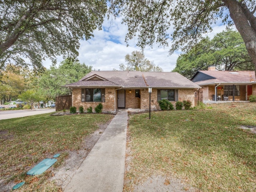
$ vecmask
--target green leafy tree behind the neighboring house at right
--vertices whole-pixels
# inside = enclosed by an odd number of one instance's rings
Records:
[[[240,34],[226,30],[204,38],[188,52],[181,54],[173,72],[191,78],[197,70],[207,70],[215,65],[218,70],[254,70]]]

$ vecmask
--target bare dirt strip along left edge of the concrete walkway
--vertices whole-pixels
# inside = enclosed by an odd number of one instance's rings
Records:
[[[77,151],[69,151],[69,156],[63,163],[63,166],[53,171],[54,176],[51,178],[51,180],[54,180],[56,184],[62,188],[62,190],[66,188],[76,173],[76,170],[80,167],[86,156],[90,153],[93,146],[105,131],[107,125],[108,124],[99,125],[100,128],[98,130],[84,139],[82,148]]]

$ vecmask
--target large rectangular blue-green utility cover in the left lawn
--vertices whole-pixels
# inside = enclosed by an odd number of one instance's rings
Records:
[[[44,159],[27,172],[27,175],[40,175],[50,168],[57,159]]]

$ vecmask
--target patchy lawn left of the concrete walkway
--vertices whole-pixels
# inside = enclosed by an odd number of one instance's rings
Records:
[[[39,176],[26,176],[26,172],[44,158],[61,156],[54,164],[58,167],[68,157],[68,150],[78,150],[84,138],[108,123],[114,116],[106,114],[80,114],[50,116],[50,114],[1,120],[0,126],[0,180],[26,181],[25,191],[61,191],[46,171]]]

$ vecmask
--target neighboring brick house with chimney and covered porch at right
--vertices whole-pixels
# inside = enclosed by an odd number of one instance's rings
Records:
[[[245,101],[256,95],[254,71],[218,71],[215,66],[198,71],[191,81],[202,87],[200,95],[204,102],[229,100]]]

